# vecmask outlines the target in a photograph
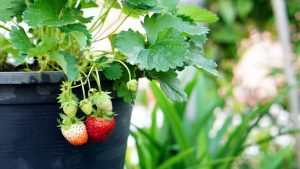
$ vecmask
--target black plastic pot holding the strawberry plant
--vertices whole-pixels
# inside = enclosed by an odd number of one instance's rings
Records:
[[[64,78],[60,72],[0,72],[0,169],[124,168],[131,105],[113,99],[118,116],[109,139],[74,147],[56,127]]]

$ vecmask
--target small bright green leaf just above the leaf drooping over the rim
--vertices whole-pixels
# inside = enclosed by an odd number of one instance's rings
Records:
[[[27,53],[29,56],[42,56],[49,53],[49,51],[57,47],[58,43],[59,43],[58,39],[49,38],[45,36],[43,37],[42,42],[38,46],[29,49]]]

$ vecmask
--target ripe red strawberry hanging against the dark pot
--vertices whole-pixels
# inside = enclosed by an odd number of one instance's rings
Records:
[[[114,117],[87,117],[86,127],[92,143],[106,140],[115,128]]]

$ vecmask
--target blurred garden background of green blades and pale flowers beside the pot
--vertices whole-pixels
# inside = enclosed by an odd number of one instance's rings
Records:
[[[155,83],[140,80],[126,156],[127,169],[297,169],[291,91],[270,0],[183,1],[210,9],[219,21],[205,52],[220,78],[181,73],[186,103],[171,103]],[[300,1],[285,1],[299,77]],[[298,78],[297,78],[298,79]],[[298,157],[299,159],[299,157]],[[298,163],[298,165],[297,165]]]

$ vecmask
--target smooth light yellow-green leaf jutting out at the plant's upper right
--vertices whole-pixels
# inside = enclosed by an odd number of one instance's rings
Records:
[[[177,14],[188,16],[195,22],[214,23],[219,20],[216,14],[193,5],[180,6]]]

